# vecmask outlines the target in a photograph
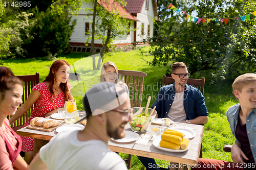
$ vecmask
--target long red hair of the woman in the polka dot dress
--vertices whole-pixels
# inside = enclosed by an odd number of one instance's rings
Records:
[[[59,67],[61,65],[65,65],[65,64],[69,66],[69,63],[65,60],[56,60],[56,61],[54,61],[51,65],[49,75],[46,77],[46,80],[44,80],[44,82],[49,82],[50,83],[49,91],[52,94],[52,96],[54,96],[54,98],[55,98],[55,94],[53,92],[53,85],[54,85],[55,82],[57,82],[56,78],[55,78],[55,72],[59,69]],[[67,82],[66,83],[60,83],[59,86],[60,86],[61,90],[64,93],[64,96],[65,96],[64,101],[66,102],[67,100],[69,100],[69,97],[70,97],[68,83]],[[51,96],[51,98],[52,98],[52,96]],[[53,100],[51,102],[53,103]]]

